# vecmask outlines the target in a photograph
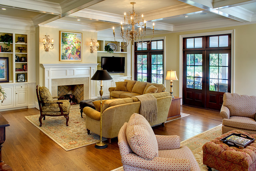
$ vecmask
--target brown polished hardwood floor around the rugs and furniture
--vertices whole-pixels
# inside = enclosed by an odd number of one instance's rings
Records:
[[[179,135],[181,141],[222,123],[219,112],[182,106],[190,116],[153,127],[159,135]],[[88,145],[65,151],[25,116],[40,114],[37,109],[18,109],[0,112],[10,123],[6,127],[6,141],[2,147],[2,160],[13,171],[110,171],[122,166],[118,139],[106,149]]]

